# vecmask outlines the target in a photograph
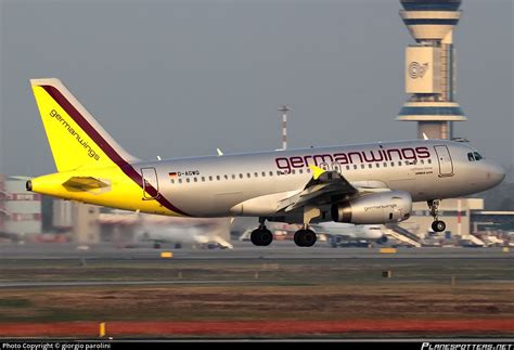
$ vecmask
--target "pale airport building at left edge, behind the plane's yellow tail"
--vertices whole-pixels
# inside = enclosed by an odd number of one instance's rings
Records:
[[[0,174],[0,232],[17,237],[41,233],[41,195],[28,193],[25,180]]]

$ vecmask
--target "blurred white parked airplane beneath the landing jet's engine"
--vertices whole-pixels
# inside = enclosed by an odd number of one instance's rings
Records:
[[[376,224],[351,224],[339,222],[320,222],[312,224],[311,229],[318,234],[327,236],[327,242],[333,247],[364,246],[372,243],[387,243],[387,236]]]

